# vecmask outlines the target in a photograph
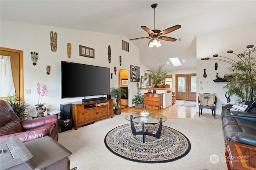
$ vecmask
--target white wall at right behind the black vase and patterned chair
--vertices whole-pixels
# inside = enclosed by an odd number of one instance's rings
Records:
[[[216,72],[219,77],[224,77],[226,73],[230,73],[227,69],[230,67],[228,63],[216,60],[202,61],[201,58],[210,57],[218,54],[223,57],[230,57],[237,61],[234,54],[228,54],[228,50],[234,50],[234,53],[239,54],[246,51],[247,45],[256,45],[256,24],[248,24],[244,26],[237,26],[226,30],[220,30],[209,34],[199,35],[196,38],[196,58],[197,58],[197,95],[198,93],[216,93],[218,98],[216,106],[216,114],[221,113],[222,103],[226,103],[225,91],[223,87],[227,83],[215,83]],[[252,53],[255,56],[255,53]],[[225,59],[225,58],[221,58]],[[218,69],[214,69],[214,64],[218,63]],[[204,69],[206,69],[207,77],[204,78]],[[202,84],[200,84],[202,81]],[[200,90],[203,87],[203,90]],[[236,103],[236,97],[231,96],[230,103]],[[198,106],[197,106],[198,107]],[[210,109],[203,109],[204,113],[211,113]]]

